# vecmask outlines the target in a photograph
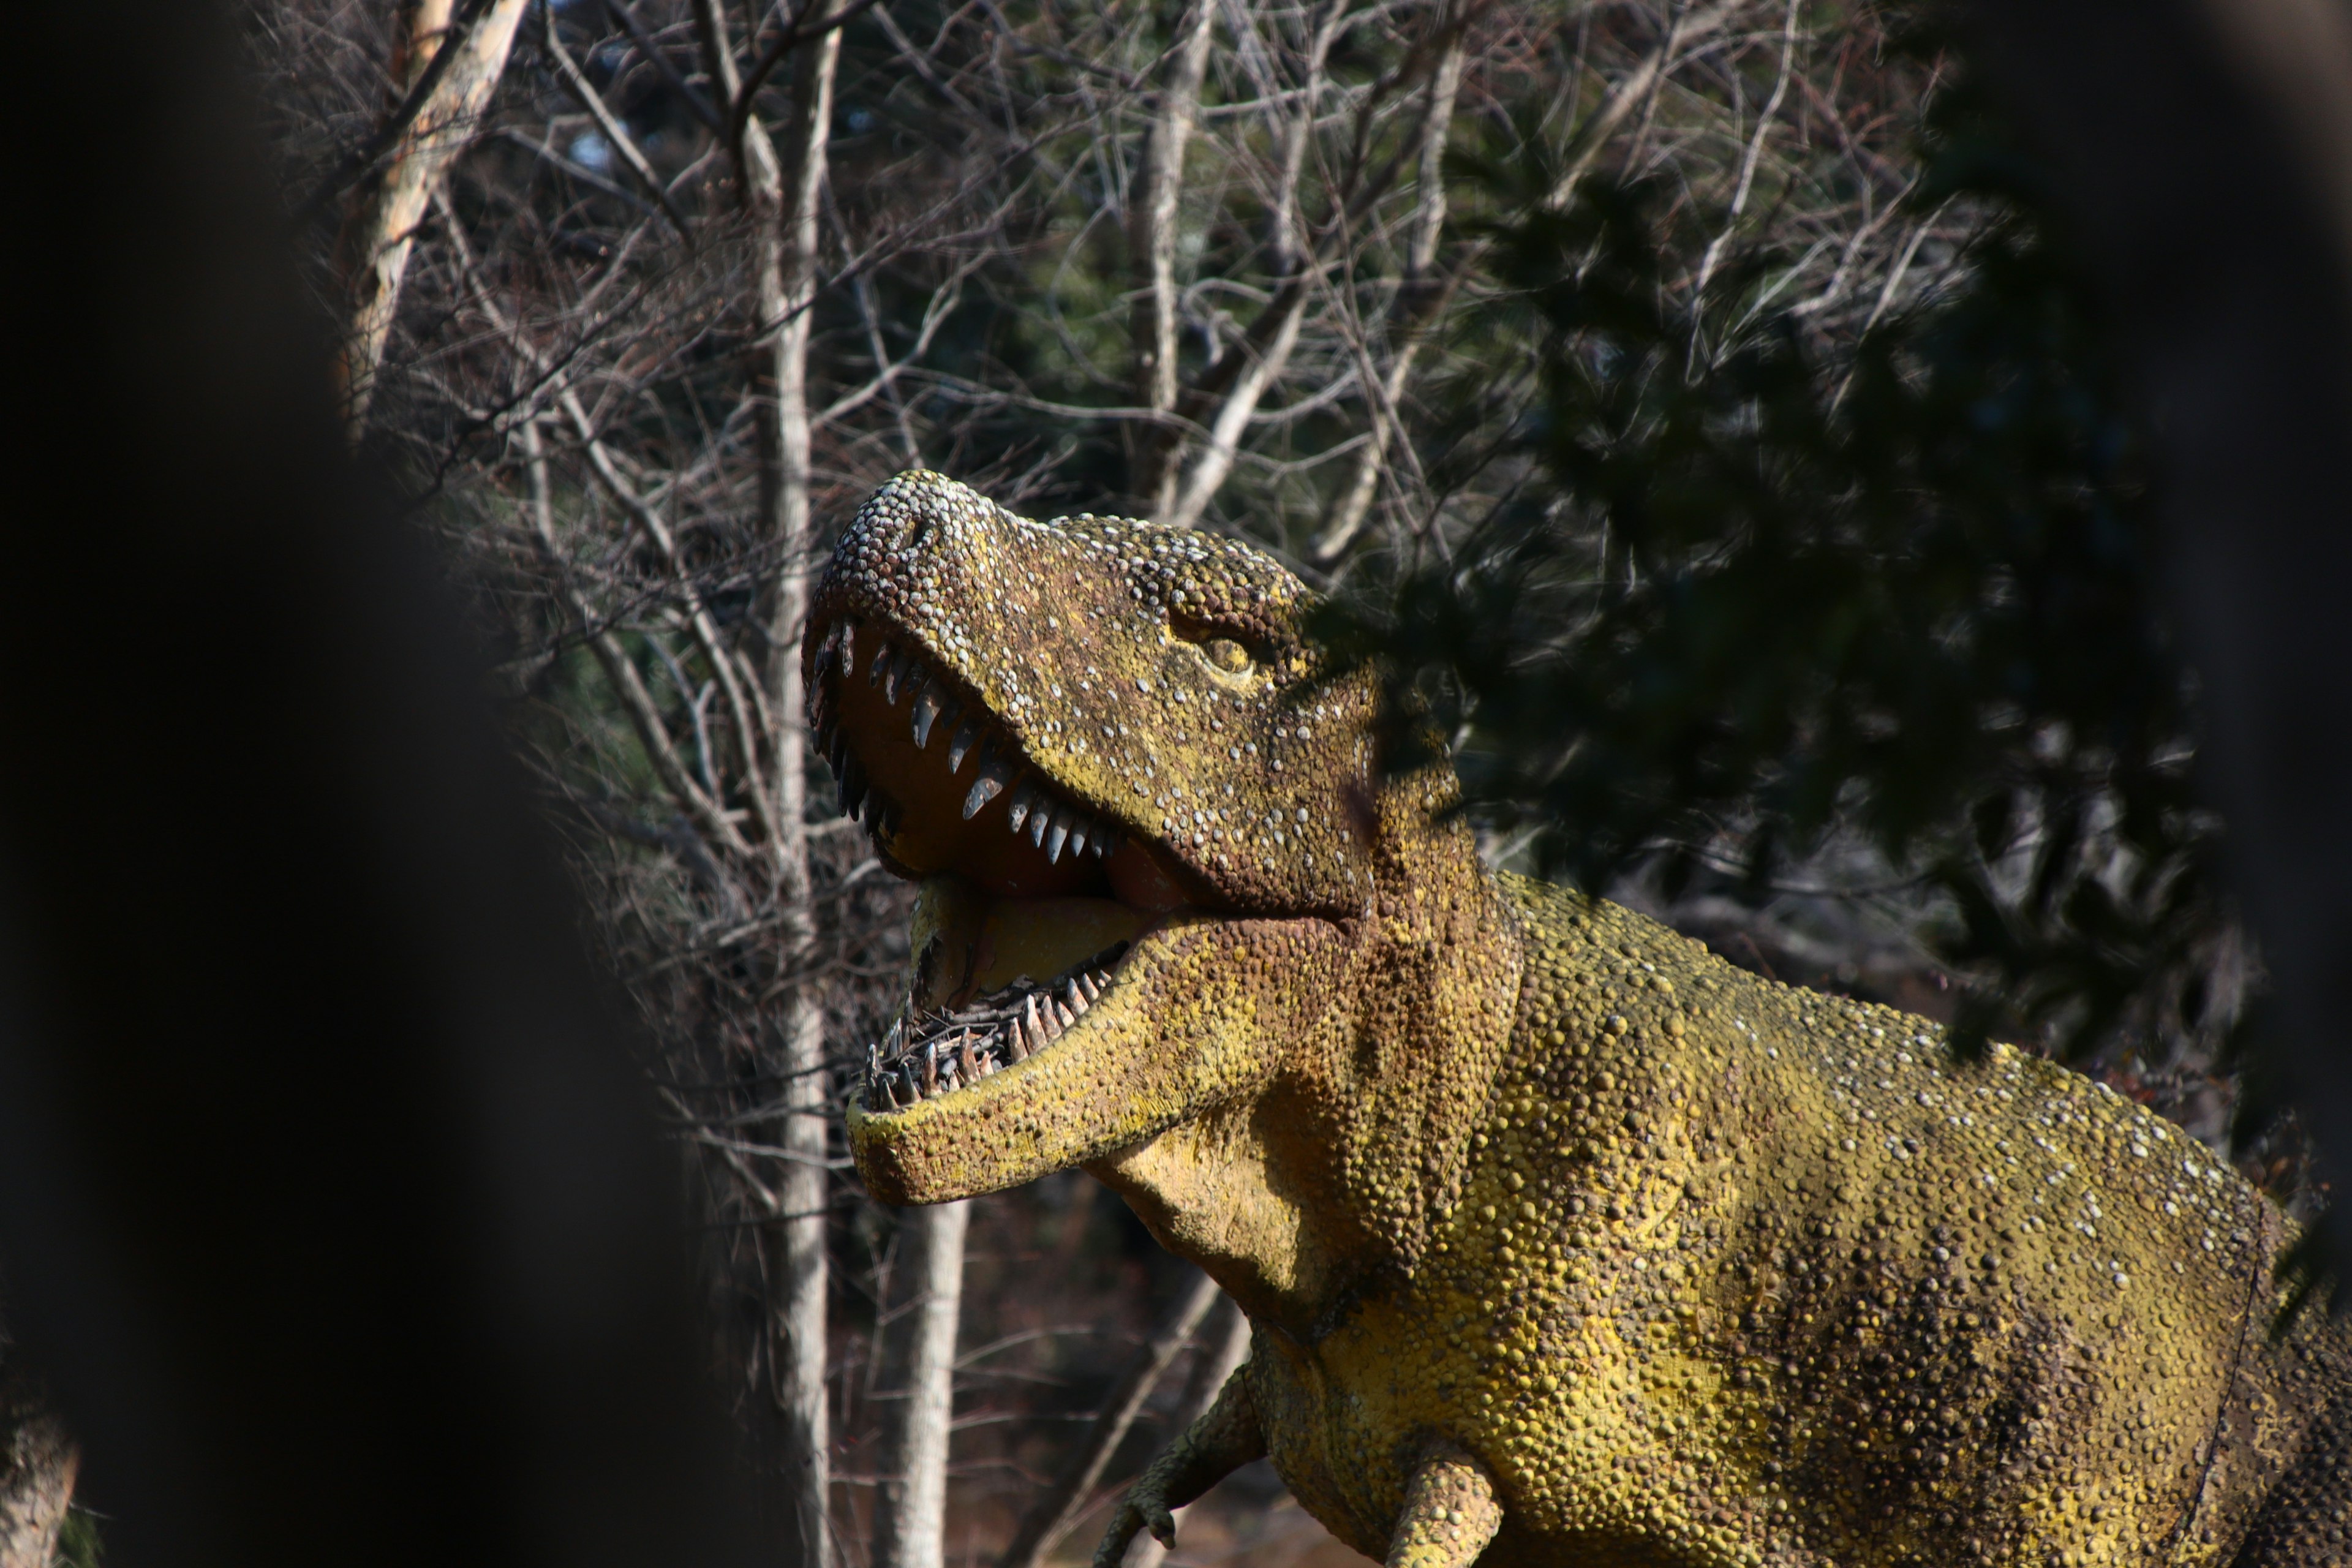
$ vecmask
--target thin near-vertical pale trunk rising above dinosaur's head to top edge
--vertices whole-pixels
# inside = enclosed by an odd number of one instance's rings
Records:
[[[1129,205],[1127,254],[1136,275],[1131,336],[1136,402],[1155,421],[1131,435],[1131,484],[1152,517],[1176,501],[1176,461],[1183,435],[1167,423],[1176,409],[1176,209],[1183,195],[1183,148],[1200,120],[1200,87],[1209,75],[1216,0],[1195,0],[1185,16],[1160,113],[1143,139],[1143,181]]]

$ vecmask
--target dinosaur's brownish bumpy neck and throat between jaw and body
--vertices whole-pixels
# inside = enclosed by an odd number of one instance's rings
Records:
[[[1261,1326],[1315,1340],[1421,1265],[1510,1039],[1522,943],[1468,835],[1425,835],[1355,922],[1343,1001],[1254,1095],[1091,1166]]]

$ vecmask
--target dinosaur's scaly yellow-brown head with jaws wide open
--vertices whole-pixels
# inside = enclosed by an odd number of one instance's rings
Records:
[[[943,1201],[1244,1093],[1329,1011],[1369,905],[1371,693],[1235,541],[1030,522],[934,473],[842,534],[802,644],[844,809],[917,879],[906,1006],[849,1112]]]

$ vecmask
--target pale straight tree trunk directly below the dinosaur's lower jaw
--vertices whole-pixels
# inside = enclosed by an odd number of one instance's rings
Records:
[[[955,1321],[964,1300],[964,1227],[971,1204],[938,1204],[906,1218],[915,1331],[908,1335],[906,1399],[889,1432],[875,1521],[875,1568],[943,1568],[948,1540],[948,1418],[955,1410]]]

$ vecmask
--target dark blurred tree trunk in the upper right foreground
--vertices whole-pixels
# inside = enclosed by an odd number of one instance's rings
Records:
[[[2352,16],[2300,0],[1978,0],[2164,442],[2201,771],[2277,997],[2270,1065],[2352,1173]],[[2352,1286],[2352,1204],[2328,1208]]]

